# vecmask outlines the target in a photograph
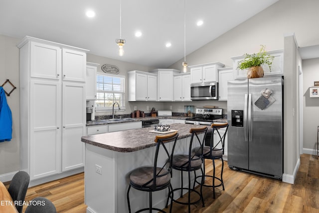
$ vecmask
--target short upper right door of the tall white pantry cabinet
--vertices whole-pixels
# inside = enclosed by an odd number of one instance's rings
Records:
[[[72,49],[62,49],[63,80],[86,80],[86,53]]]

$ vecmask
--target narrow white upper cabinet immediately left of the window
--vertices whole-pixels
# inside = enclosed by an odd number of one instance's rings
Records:
[[[96,74],[100,64],[86,63],[86,100],[96,100]]]

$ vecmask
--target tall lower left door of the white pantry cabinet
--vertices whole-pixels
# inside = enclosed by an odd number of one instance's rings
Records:
[[[31,180],[54,175],[61,171],[60,104],[61,87],[57,81],[30,81],[29,175]],[[27,134],[26,131],[23,131],[22,134],[24,133]],[[20,149],[26,151],[26,145],[27,142]],[[26,154],[22,153],[22,157]],[[21,163],[26,165],[26,162]]]

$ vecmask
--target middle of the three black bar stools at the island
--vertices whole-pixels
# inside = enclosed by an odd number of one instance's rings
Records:
[[[191,189],[190,185],[190,173],[194,171],[194,173],[197,170],[201,170],[201,174],[203,177],[203,170],[202,170],[202,155],[196,156],[192,154],[192,145],[195,144],[196,142],[199,144],[199,146],[203,147],[203,143],[205,141],[205,136],[207,133],[208,128],[206,126],[199,127],[199,128],[191,128],[189,130],[189,133],[191,133],[191,138],[190,138],[190,144],[189,144],[189,151],[188,154],[186,155],[174,155],[173,156],[173,161],[172,161],[172,168],[175,170],[180,171],[181,173],[181,187],[173,189],[167,197],[167,204],[168,204],[168,199],[170,198],[170,210],[172,210],[172,204],[173,202],[177,204],[182,204],[182,205],[188,205],[188,213],[190,213],[190,205],[197,204],[198,202],[202,202],[203,207],[204,205],[204,199],[202,196],[202,186],[200,186],[200,193],[194,189],[194,187]],[[198,137],[199,134],[203,134],[203,139],[200,139]],[[195,141],[196,140],[196,141]],[[188,188],[183,187],[183,172],[188,172]],[[195,176],[196,177],[196,176]],[[188,200],[186,202],[180,202],[174,199],[174,191],[180,191],[180,198],[183,196],[183,190],[188,191]],[[191,202],[190,201],[190,193],[194,192],[199,196],[199,199],[196,201]],[[166,204],[166,208],[167,208]]]

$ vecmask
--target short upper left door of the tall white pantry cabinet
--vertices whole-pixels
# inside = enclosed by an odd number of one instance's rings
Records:
[[[59,79],[61,75],[61,48],[54,45],[30,42],[30,76]]]

